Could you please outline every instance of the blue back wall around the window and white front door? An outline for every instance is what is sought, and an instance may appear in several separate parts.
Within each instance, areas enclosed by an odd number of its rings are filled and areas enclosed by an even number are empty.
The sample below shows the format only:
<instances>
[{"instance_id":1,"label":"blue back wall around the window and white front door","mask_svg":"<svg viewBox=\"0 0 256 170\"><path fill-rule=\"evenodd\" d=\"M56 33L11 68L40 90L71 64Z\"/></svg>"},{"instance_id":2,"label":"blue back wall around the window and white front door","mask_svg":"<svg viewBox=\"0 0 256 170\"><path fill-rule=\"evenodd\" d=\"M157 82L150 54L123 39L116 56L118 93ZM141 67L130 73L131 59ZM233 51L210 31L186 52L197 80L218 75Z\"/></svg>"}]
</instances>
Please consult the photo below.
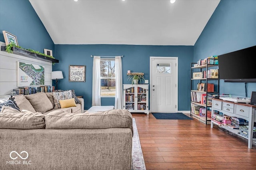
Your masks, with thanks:
<instances>
[{"instance_id":1,"label":"blue back wall around the window and white front door","mask_svg":"<svg viewBox=\"0 0 256 170\"><path fill-rule=\"evenodd\" d=\"M122 58L123 84L127 81L127 70L143 72L150 78L150 56L178 57L178 110L190 110L190 67L193 61L193 46L157 45L55 45L55 57L60 63L53 66L63 71L64 79L58 82L58 89L74 89L76 95L85 99L85 109L92 105L92 64L91 55L116 56ZM86 82L69 82L68 66L86 65ZM102 98L102 105L114 105L114 98Z\"/></svg>"}]
</instances>

